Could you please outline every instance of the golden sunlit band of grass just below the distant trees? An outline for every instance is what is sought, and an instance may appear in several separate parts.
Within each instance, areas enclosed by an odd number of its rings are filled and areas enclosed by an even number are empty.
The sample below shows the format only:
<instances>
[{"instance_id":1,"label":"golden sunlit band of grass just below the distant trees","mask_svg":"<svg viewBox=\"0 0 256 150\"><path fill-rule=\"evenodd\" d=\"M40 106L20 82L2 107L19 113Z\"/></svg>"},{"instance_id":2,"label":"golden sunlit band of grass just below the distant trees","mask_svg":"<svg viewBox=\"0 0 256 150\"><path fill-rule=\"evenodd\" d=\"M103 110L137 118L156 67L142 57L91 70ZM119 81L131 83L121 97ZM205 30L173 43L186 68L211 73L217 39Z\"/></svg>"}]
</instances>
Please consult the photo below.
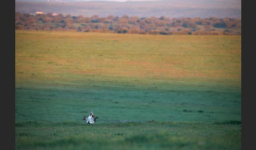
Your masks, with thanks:
<instances>
[{"instance_id":1,"label":"golden sunlit band of grass just below the distant trees","mask_svg":"<svg viewBox=\"0 0 256 150\"><path fill-rule=\"evenodd\" d=\"M15 49L16 82L93 75L241 82L241 36L16 31Z\"/></svg>"}]
</instances>

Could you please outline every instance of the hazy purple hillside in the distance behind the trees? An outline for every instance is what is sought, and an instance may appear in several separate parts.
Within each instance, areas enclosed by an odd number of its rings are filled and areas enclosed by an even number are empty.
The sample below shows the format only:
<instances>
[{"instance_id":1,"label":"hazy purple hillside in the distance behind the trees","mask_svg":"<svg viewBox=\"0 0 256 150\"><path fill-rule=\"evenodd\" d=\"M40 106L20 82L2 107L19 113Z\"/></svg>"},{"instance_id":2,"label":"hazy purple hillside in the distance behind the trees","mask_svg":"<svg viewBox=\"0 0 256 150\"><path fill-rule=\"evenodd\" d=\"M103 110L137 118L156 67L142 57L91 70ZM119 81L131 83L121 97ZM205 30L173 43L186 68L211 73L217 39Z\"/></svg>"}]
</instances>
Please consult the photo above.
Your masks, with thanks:
<instances>
[{"instance_id":1,"label":"hazy purple hillside in the distance behind the trees","mask_svg":"<svg viewBox=\"0 0 256 150\"><path fill-rule=\"evenodd\" d=\"M15 2L15 12L56 13L107 17L217 17L241 18L241 1L143 1L143 2Z\"/></svg>"}]
</instances>

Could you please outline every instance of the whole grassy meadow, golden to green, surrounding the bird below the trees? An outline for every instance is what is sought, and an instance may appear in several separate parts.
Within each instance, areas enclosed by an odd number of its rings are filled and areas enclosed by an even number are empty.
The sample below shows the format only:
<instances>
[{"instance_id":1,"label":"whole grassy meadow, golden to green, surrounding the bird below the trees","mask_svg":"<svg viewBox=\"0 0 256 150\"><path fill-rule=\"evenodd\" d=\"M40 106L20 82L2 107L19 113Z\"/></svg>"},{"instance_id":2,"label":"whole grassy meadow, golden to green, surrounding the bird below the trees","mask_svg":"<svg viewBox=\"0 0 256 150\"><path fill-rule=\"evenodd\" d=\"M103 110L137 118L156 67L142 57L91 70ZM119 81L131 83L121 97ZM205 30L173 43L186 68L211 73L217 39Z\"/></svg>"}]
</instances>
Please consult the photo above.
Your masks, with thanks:
<instances>
[{"instance_id":1,"label":"whole grassy meadow, golden to green, surrounding the bird below the trees","mask_svg":"<svg viewBox=\"0 0 256 150\"><path fill-rule=\"evenodd\" d=\"M15 31L16 149L88 146L241 149L241 36Z\"/></svg>"}]
</instances>

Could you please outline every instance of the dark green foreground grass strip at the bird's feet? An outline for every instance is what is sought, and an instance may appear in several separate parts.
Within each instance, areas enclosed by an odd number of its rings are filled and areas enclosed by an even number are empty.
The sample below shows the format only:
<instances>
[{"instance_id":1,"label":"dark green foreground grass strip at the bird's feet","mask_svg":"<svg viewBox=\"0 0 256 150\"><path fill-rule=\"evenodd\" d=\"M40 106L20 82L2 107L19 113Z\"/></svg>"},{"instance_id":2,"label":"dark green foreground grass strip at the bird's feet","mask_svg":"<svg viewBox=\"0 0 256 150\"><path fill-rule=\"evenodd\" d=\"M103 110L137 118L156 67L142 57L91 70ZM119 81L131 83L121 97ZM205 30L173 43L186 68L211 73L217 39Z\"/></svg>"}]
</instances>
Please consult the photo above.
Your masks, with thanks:
<instances>
[{"instance_id":1,"label":"dark green foreground grass strip at the bird's feet","mask_svg":"<svg viewBox=\"0 0 256 150\"><path fill-rule=\"evenodd\" d=\"M21 122L15 137L16 149L241 149L241 123Z\"/></svg>"}]
</instances>

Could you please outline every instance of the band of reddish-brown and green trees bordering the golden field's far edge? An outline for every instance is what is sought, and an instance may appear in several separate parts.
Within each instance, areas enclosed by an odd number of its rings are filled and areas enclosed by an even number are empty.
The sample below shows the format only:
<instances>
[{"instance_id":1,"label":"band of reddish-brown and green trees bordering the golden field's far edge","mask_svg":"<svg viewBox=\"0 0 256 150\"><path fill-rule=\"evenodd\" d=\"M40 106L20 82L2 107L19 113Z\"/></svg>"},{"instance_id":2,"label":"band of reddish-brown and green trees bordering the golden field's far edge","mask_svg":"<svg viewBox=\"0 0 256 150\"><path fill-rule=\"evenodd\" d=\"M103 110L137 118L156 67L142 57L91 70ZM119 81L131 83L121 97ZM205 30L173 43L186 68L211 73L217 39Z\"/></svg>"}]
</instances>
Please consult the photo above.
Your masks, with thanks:
<instances>
[{"instance_id":1,"label":"band of reddish-brown and green trees bordering the golden field's far edge","mask_svg":"<svg viewBox=\"0 0 256 150\"><path fill-rule=\"evenodd\" d=\"M16 30L60 30L117 34L161 35L241 35L241 19L237 18L168 18L137 16L91 17L62 14L15 13Z\"/></svg>"}]
</instances>

